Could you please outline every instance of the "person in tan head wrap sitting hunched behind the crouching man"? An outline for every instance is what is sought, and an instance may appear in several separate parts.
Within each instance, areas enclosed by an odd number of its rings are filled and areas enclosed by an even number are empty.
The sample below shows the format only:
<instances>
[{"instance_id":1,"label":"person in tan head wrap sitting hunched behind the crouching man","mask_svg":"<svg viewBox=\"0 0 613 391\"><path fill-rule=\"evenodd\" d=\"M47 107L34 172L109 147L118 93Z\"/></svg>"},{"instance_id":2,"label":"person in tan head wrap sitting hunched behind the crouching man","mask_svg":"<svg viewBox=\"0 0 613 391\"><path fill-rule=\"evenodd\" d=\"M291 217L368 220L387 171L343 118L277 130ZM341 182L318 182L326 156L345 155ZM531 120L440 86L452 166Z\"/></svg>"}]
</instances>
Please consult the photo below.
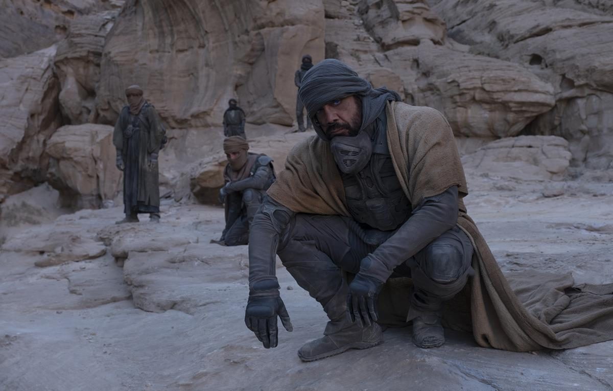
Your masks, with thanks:
<instances>
[{"instance_id":1,"label":"person in tan head wrap sitting hunched behind the crouching man","mask_svg":"<svg viewBox=\"0 0 613 391\"><path fill-rule=\"evenodd\" d=\"M232 136L224 140L228 164L224 169L226 184L219 190L219 201L226 207L226 228L221 238L213 243L246 245L253 216L275 181L272 159L248 150L249 144L242 137Z\"/></svg>"}]
</instances>

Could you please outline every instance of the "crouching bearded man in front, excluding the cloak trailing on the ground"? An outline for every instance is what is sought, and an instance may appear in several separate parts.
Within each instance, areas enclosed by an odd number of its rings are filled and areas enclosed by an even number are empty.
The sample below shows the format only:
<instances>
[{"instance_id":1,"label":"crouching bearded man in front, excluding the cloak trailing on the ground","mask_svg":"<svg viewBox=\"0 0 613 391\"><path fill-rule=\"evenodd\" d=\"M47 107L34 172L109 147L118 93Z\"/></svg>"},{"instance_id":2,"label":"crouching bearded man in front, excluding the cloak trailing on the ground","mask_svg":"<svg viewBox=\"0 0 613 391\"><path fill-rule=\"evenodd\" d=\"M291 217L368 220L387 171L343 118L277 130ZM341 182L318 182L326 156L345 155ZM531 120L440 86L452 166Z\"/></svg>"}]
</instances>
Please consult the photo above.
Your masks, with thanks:
<instances>
[{"instance_id":1,"label":"crouching bearded man in front, excluding the cloak trailing on the ground","mask_svg":"<svg viewBox=\"0 0 613 391\"><path fill-rule=\"evenodd\" d=\"M277 316L292 330L278 254L330 319L303 361L381 343L376 301L392 275L413 279L414 344L441 346L441 306L465 286L473 254L456 224L467 189L451 127L335 59L309 70L299 94L317 135L294 147L253 220L247 327L264 347L278 343Z\"/></svg>"}]
</instances>

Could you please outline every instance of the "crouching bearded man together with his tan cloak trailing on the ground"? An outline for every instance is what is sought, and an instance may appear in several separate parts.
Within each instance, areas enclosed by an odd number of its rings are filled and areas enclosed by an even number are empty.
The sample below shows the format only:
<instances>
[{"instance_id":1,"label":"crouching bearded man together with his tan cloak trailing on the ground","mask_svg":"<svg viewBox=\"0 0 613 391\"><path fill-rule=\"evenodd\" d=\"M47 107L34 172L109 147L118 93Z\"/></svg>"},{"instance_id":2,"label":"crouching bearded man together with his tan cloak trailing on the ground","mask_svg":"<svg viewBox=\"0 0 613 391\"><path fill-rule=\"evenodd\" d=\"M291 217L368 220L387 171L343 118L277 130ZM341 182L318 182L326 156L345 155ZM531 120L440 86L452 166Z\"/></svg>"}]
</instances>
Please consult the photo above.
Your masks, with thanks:
<instances>
[{"instance_id":1,"label":"crouching bearded man together with his tan cloak trailing on the ground","mask_svg":"<svg viewBox=\"0 0 613 391\"><path fill-rule=\"evenodd\" d=\"M292 331L277 255L329 318L324 336L300 347L307 362L376 346L379 322L412 321L416 346L441 346L445 302L446 319L464 316L458 324L485 347L562 349L613 338L610 287L599 288L601 297L573 287L563 298L568 279L546 283L531 272L516 278L524 293L514 294L466 214L462 163L440 112L373 89L335 59L304 76L299 96L316 135L289 153L249 232L245 324L264 347L277 346L277 317Z\"/></svg>"}]
</instances>

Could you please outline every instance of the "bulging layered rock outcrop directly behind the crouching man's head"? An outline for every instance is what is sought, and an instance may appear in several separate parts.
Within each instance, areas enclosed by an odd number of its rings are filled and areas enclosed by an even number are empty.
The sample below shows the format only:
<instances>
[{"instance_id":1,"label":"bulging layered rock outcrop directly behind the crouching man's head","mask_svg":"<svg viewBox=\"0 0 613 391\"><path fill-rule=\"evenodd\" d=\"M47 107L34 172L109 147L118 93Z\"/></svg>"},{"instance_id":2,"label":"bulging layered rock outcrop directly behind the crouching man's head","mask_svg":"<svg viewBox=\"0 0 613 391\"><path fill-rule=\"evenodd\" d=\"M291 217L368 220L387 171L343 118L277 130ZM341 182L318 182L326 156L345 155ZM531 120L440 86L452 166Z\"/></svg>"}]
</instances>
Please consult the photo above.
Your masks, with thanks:
<instances>
[{"instance_id":1,"label":"bulging layered rock outcrop directly behind the crouching man's head","mask_svg":"<svg viewBox=\"0 0 613 391\"><path fill-rule=\"evenodd\" d=\"M524 67L447 39L444 21L425 2L362 1L354 15L326 21L327 56L406 102L440 110L458 136L517 135L555 103L553 86Z\"/></svg>"}]
</instances>

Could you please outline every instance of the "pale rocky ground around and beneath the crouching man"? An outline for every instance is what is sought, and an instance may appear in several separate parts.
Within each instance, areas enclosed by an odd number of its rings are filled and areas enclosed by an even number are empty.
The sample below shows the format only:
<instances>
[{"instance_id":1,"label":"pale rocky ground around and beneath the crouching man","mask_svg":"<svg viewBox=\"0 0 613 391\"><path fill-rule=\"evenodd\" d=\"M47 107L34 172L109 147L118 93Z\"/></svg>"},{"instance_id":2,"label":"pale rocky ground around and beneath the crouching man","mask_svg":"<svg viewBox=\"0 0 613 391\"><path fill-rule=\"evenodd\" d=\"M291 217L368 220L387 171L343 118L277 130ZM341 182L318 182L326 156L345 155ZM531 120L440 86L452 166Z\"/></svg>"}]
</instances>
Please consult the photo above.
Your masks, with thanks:
<instances>
[{"instance_id":1,"label":"pale rocky ground around and beneath the crouching man","mask_svg":"<svg viewBox=\"0 0 613 391\"><path fill-rule=\"evenodd\" d=\"M611 173L563 182L467 174L468 211L504 271L613 282ZM142 216L116 226L121 211L82 210L7 237L1 390L613 390L611 341L512 353L448 331L443 347L424 350L397 328L373 349L300 362L297 349L321 336L326 316L280 266L294 332L264 349L243 322L247 247L209 244L221 208L167 203L161 224Z\"/></svg>"}]
</instances>

